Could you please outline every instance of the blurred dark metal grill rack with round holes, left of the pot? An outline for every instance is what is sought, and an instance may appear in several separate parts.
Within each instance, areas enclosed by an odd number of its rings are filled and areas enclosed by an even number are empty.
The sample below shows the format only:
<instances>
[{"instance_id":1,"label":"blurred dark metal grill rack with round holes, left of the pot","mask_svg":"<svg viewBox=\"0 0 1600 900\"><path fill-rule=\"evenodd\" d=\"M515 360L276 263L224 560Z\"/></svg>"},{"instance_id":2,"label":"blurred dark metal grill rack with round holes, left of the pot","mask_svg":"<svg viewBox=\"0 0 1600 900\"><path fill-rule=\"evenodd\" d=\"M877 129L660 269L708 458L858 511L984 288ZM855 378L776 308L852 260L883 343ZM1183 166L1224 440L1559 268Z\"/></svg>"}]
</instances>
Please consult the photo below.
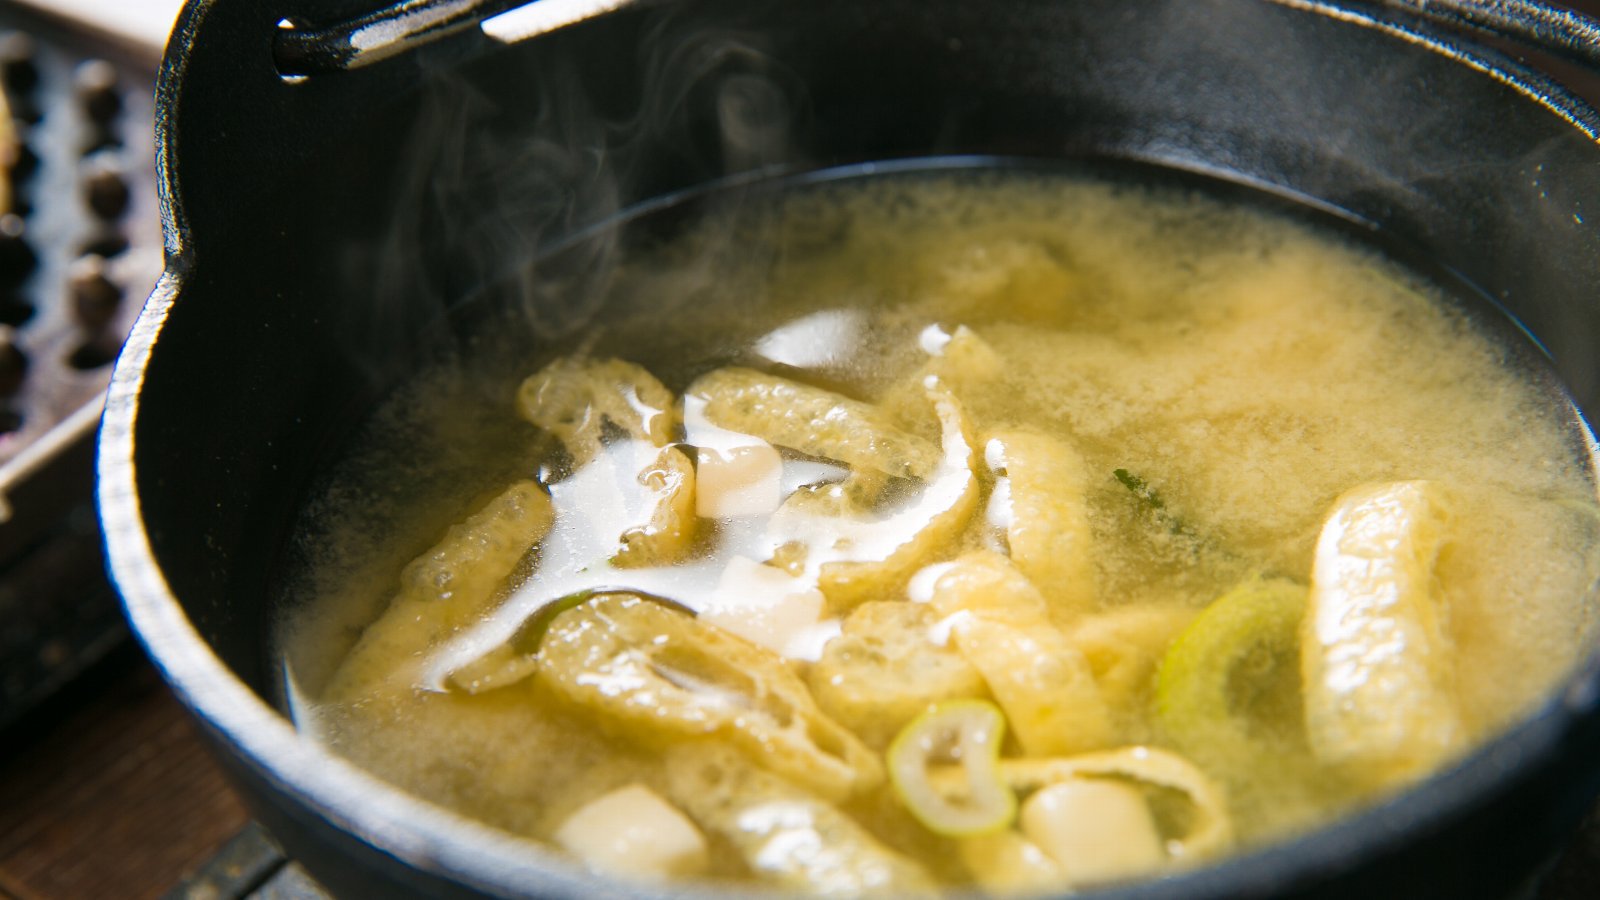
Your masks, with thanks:
<instances>
[{"instance_id":1,"label":"blurred dark metal grill rack with round holes, left of the pot","mask_svg":"<svg viewBox=\"0 0 1600 900\"><path fill-rule=\"evenodd\" d=\"M126 642L93 444L162 271L154 85L149 53L0 5L0 732Z\"/></svg>"}]
</instances>

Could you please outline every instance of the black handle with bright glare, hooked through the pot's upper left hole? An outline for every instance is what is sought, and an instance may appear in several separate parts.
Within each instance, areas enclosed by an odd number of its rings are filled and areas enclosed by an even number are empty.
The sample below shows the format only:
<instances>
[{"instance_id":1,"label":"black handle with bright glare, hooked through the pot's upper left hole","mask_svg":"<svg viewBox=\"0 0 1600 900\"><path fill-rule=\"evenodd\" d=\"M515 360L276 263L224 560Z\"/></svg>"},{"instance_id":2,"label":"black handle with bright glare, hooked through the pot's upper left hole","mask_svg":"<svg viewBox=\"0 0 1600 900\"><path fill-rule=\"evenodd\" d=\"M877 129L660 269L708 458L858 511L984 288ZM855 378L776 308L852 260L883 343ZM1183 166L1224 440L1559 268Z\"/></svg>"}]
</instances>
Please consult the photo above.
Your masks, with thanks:
<instances>
[{"instance_id":1,"label":"black handle with bright glare, hooked through the pot's upper left hole","mask_svg":"<svg viewBox=\"0 0 1600 900\"><path fill-rule=\"evenodd\" d=\"M274 37L272 58L280 75L304 78L360 69L517 8L538 6L539 30L554 30L624 5L627 0L402 0L331 26L285 22Z\"/></svg>"}]
</instances>

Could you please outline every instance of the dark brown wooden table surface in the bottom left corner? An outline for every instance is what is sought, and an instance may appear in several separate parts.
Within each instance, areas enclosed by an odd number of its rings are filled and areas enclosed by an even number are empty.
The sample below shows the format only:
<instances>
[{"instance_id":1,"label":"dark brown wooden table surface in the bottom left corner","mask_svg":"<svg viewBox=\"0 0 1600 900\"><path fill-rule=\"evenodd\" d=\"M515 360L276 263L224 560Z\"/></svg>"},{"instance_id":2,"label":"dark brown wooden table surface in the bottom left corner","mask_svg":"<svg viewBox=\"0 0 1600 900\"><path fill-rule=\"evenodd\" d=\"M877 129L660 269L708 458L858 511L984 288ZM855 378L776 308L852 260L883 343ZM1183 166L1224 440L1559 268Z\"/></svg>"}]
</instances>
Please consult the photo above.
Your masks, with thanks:
<instances>
[{"instance_id":1,"label":"dark brown wooden table surface in the bottom left corner","mask_svg":"<svg viewBox=\"0 0 1600 900\"><path fill-rule=\"evenodd\" d=\"M0 746L0 895L162 897L248 817L130 644Z\"/></svg>"}]
</instances>

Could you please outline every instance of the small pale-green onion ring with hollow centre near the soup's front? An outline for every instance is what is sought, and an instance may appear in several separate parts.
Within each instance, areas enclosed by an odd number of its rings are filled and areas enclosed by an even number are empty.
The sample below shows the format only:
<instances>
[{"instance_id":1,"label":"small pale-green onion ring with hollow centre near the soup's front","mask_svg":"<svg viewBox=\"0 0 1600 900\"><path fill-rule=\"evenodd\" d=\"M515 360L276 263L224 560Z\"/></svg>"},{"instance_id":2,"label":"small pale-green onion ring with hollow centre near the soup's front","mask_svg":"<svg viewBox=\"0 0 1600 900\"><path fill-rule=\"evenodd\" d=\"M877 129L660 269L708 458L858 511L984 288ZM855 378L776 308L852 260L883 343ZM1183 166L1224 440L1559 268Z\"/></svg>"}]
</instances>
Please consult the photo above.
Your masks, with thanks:
<instances>
[{"instance_id":1,"label":"small pale-green onion ring with hollow centre near the soup's front","mask_svg":"<svg viewBox=\"0 0 1600 900\"><path fill-rule=\"evenodd\" d=\"M1005 716L994 703L936 703L890 745L894 794L917 822L947 838L971 838L1011 825L1016 794L1000 778L1002 738ZM936 778L934 767L938 775L954 769L957 777Z\"/></svg>"}]
</instances>

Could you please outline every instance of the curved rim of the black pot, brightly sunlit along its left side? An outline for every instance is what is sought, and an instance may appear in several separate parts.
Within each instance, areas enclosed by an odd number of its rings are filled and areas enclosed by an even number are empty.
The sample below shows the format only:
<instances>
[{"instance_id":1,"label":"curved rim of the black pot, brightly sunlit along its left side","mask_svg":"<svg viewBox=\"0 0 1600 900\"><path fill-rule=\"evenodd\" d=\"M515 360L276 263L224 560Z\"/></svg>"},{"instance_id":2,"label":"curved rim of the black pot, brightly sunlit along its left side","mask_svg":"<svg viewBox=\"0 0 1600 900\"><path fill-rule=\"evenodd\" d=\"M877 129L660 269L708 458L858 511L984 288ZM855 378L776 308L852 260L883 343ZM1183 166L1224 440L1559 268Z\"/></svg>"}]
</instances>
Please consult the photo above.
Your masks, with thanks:
<instances>
[{"instance_id":1,"label":"curved rim of the black pot, brightly sunlit along its left side","mask_svg":"<svg viewBox=\"0 0 1600 900\"><path fill-rule=\"evenodd\" d=\"M173 34L186 46L206 11L222 0L186 6ZM1462 46L1454 35L1427 24L1402 24L1357 8L1346 0L1259 0L1307 14L1374 29L1421 45L1469 66L1544 106L1590 139L1600 138L1600 117L1563 86L1515 61L1480 46ZM182 66L168 56L160 99L166 115L181 93ZM533 841L512 836L430 802L413 798L322 745L298 733L293 724L240 681L211 650L184 613L162 573L144 528L134 456L141 388L146 367L173 304L182 295L190 267L181 202L173 189L174 147L162 131L158 152L162 216L168 266L130 331L112 373L98 442L96 498L106 540L107 569L123 599L133 631L184 705L237 759L275 791L302 804L339 830L378 847L411 868L440 874L494 895L624 895L624 897L736 897L749 889L709 886L630 886L582 871L576 863ZM1150 160L1165 163L1168 160ZM1214 173L1213 173L1214 175ZM1107 890L1106 897L1266 897L1286 887L1315 886L1326 876L1386 857L1398 847L1440 831L1448 822L1490 806L1512 790L1512 775L1557 756L1584 719L1600 717L1600 647L1565 677L1542 705L1520 724L1478 746L1451 769L1333 825L1254 849L1170 878ZM1403 838L1397 841L1397 838ZM1094 894L1099 897L1101 894Z\"/></svg>"}]
</instances>

